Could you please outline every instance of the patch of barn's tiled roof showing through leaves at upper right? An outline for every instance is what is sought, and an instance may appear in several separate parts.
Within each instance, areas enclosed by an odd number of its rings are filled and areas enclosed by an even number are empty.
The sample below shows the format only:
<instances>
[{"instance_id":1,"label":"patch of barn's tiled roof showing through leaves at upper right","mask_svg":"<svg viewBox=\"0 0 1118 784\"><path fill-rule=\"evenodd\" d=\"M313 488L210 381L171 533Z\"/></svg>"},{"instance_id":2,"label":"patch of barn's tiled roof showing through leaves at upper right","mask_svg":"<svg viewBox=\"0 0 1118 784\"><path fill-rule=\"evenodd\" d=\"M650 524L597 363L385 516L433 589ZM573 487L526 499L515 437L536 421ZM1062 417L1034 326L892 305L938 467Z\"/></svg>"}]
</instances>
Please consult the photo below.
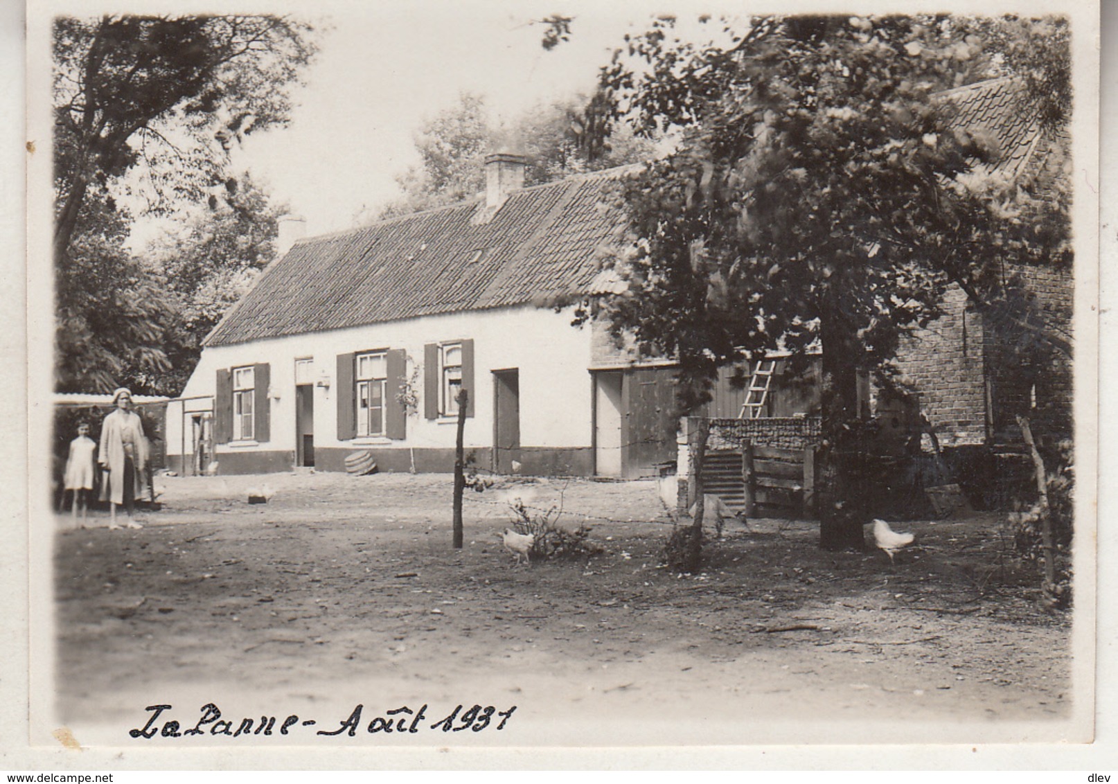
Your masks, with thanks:
<instances>
[{"instance_id":1,"label":"patch of barn's tiled roof showing through leaves at upper right","mask_svg":"<svg viewBox=\"0 0 1118 784\"><path fill-rule=\"evenodd\" d=\"M1044 144L1040 113L1031 107L1024 83L1008 77L976 82L956 87L937 96L946 106L945 119L950 130L968 133L985 132L997 145L997 159L992 168L1017 177L1039 158Z\"/></svg>"}]
</instances>

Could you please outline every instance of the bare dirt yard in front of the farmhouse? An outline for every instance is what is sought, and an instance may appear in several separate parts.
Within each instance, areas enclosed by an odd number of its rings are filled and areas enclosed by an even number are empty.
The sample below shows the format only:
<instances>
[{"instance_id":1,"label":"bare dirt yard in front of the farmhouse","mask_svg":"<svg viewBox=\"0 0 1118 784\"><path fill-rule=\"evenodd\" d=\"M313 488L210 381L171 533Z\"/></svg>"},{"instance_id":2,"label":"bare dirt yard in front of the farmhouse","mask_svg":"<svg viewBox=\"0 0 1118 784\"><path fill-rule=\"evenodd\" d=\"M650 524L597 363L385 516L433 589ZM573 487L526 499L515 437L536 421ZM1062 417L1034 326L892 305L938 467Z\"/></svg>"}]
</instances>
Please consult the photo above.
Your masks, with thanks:
<instances>
[{"instance_id":1,"label":"bare dirt yard in front of the farmhouse","mask_svg":"<svg viewBox=\"0 0 1118 784\"><path fill-rule=\"evenodd\" d=\"M313 719L283 743L318 743L360 703L350 743L368 743L401 706L428 726L517 706L500 733L395 739L519 745L1051 738L1069 715L1070 614L1039 608L998 517L898 523L918 540L896 565L821 551L811 523L735 521L680 577L655 483L511 487L561 500L601 552L514 567L500 487L467 491L455 551L445 475L158 478L142 530L59 516L60 717L123 744L146 706L184 728L214 702L233 728Z\"/></svg>"}]
</instances>

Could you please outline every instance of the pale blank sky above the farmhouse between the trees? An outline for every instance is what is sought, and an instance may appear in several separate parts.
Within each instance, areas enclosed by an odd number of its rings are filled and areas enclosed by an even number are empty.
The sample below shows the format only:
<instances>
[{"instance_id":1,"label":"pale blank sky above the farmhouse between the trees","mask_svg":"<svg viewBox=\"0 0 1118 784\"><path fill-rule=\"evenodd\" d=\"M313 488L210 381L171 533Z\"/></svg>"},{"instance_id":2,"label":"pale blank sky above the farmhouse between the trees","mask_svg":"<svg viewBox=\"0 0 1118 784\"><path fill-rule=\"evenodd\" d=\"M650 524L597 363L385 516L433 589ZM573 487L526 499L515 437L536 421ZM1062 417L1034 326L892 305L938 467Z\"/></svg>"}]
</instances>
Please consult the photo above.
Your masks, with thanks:
<instances>
[{"instance_id":1,"label":"pale blank sky above the farmhouse between the trees","mask_svg":"<svg viewBox=\"0 0 1118 784\"><path fill-rule=\"evenodd\" d=\"M349 228L362 207L398 196L396 177L418 162L414 133L462 92L492 117L589 93L597 69L646 3L565 3L571 40L540 45L555 12L532 2L348 3L313 21L321 50L295 92L288 127L246 136L235 164L306 220L309 235ZM306 6L304 8L310 8ZM643 28L642 28L643 29Z\"/></svg>"}]
</instances>

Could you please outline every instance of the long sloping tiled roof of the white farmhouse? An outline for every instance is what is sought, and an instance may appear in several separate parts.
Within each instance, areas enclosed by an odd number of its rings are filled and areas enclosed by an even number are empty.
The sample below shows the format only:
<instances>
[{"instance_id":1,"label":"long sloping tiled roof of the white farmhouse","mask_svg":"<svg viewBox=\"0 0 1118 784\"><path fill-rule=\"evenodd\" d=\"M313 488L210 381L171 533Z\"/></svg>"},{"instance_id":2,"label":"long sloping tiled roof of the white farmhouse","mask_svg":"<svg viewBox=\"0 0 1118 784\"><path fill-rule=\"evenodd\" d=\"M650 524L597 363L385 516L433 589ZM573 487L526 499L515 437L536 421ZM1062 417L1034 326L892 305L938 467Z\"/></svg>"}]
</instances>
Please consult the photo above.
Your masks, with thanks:
<instances>
[{"instance_id":1,"label":"long sloping tiled roof of the white farmhouse","mask_svg":"<svg viewBox=\"0 0 1118 784\"><path fill-rule=\"evenodd\" d=\"M483 201L301 240L271 264L206 346L588 291L624 217L604 190L620 170L513 191L489 223Z\"/></svg>"}]
</instances>

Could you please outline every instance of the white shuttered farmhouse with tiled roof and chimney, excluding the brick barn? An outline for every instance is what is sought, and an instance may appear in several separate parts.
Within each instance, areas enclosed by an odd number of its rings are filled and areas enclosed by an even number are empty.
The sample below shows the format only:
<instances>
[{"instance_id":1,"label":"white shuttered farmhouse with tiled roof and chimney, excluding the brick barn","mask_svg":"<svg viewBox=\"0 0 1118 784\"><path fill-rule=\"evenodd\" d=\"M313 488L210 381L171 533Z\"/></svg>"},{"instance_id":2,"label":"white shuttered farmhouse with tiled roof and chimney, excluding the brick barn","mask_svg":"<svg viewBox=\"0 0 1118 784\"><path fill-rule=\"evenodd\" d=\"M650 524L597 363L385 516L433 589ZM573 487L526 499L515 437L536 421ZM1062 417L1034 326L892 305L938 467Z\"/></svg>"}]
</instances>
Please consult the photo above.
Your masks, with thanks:
<instances>
[{"instance_id":1,"label":"white shuttered farmhouse with tiled roof and chimney, excluding the brick barn","mask_svg":"<svg viewBox=\"0 0 1118 784\"><path fill-rule=\"evenodd\" d=\"M601 327L546 306L593 290L623 226L617 171L523 188L524 163L490 155L482 199L296 242L208 336L169 409L172 465L339 471L367 451L381 470L449 471L459 389L483 469L632 475L671 459L670 375L599 372ZM666 426L631 433L634 407Z\"/></svg>"}]
</instances>

